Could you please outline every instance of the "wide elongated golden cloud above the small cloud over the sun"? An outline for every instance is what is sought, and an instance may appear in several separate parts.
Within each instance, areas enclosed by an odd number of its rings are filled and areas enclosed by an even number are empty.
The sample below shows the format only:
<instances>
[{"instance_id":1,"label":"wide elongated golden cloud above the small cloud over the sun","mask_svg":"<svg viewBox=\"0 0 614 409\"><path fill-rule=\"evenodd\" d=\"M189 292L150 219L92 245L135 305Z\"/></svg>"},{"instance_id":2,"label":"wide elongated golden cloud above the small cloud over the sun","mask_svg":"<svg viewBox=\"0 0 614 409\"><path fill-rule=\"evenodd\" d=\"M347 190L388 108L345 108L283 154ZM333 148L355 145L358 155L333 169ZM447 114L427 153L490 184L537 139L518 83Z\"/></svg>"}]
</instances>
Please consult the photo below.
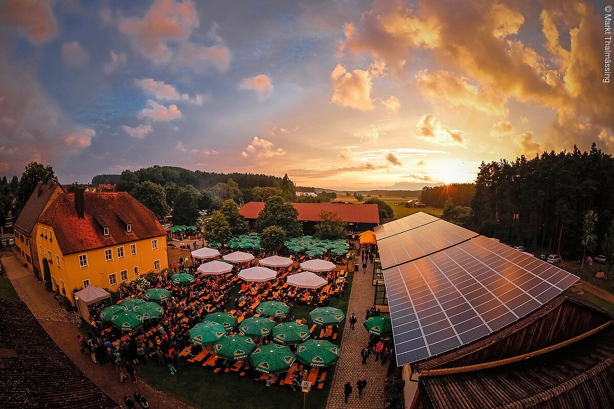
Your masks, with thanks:
<instances>
[{"instance_id":1,"label":"wide elongated golden cloud above the small cloud over the sun","mask_svg":"<svg viewBox=\"0 0 614 409\"><path fill-rule=\"evenodd\" d=\"M449 71L419 71L416 84L420 93L433 104L466 107L486 115L507 115L503 93L473 85L467 77Z\"/></svg>"}]
</instances>

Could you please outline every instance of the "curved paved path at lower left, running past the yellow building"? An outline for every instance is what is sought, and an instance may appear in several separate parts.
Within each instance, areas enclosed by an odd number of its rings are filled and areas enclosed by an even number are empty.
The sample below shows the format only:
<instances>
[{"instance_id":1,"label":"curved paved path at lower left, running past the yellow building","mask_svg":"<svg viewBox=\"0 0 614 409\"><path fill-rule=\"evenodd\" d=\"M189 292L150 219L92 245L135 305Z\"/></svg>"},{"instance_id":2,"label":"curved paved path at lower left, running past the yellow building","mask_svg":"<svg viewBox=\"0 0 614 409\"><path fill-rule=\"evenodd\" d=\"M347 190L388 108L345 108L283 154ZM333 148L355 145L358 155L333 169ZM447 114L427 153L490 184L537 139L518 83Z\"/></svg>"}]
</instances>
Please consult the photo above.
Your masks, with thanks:
<instances>
[{"instance_id":1,"label":"curved paved path at lower left, running past the yellow building","mask_svg":"<svg viewBox=\"0 0 614 409\"><path fill-rule=\"evenodd\" d=\"M152 409L190 408L189 405L164 392L151 388L143 381L119 383L119 375L113 370L111 364L101 365L91 362L90 357L87 354L80 353L79 346L77 346L79 317L61 308L58 301L53 298L53 294L44 288L33 273L23 267L17 256L2 257L2 266L4 266L7 277L15 287L18 296L28 305L45 331L53 338L53 341L93 383L111 396L112 399L120 402L122 407L125 407L123 396L139 391L147 397ZM136 370L138 370L138 367L136 367Z\"/></svg>"}]
</instances>

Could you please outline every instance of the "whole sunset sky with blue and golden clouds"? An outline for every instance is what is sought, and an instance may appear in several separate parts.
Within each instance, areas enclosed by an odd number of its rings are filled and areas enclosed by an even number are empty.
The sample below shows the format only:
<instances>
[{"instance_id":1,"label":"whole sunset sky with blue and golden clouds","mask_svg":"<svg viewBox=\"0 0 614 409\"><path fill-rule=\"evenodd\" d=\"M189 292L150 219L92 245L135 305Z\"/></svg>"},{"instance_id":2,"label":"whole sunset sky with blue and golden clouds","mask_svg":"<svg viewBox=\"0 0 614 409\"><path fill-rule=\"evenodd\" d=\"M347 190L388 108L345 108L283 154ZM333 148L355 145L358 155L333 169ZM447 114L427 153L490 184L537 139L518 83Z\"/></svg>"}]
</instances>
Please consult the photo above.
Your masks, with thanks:
<instances>
[{"instance_id":1,"label":"whole sunset sky with blue and golden clouds","mask_svg":"<svg viewBox=\"0 0 614 409\"><path fill-rule=\"evenodd\" d=\"M302 186L472 182L614 151L605 3L0 1L0 175L155 164Z\"/></svg>"}]
</instances>

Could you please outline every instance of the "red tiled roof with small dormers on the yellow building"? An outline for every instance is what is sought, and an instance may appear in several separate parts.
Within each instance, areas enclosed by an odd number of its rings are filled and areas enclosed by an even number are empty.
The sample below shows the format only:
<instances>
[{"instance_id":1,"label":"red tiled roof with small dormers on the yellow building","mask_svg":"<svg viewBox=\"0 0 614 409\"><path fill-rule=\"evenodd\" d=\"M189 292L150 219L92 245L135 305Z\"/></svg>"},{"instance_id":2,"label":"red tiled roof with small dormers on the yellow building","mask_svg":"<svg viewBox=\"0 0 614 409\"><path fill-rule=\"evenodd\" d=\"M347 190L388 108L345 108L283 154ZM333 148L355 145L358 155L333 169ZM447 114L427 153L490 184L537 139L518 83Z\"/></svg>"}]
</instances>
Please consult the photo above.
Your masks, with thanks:
<instances>
[{"instance_id":1,"label":"red tiled roof with small dormers on the yellow building","mask_svg":"<svg viewBox=\"0 0 614 409\"><path fill-rule=\"evenodd\" d=\"M77 217L73 193L60 194L39 218L53 227L63 254L166 235L155 215L126 192L85 193L84 202L83 219ZM131 232L122 219L131 221ZM103 227L109 227L106 237Z\"/></svg>"}]
</instances>

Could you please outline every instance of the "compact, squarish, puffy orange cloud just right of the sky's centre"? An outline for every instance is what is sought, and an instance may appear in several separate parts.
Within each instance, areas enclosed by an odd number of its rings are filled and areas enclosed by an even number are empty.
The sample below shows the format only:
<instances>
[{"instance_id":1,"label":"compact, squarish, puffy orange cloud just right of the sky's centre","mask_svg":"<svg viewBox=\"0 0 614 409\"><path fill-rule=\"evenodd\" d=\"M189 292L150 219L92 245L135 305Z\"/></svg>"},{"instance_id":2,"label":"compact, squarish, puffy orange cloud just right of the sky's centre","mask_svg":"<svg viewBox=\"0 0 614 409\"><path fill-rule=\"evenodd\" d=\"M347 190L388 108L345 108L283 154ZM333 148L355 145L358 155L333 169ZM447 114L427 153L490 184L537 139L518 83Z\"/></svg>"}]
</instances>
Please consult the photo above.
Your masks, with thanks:
<instances>
[{"instance_id":1,"label":"compact, squarish, puffy orange cloud just right of the sky's centre","mask_svg":"<svg viewBox=\"0 0 614 409\"><path fill-rule=\"evenodd\" d=\"M333 104L362 111L373 110L373 83L369 72L360 69L348 72L341 64L337 64L330 74L330 83L333 87L330 102Z\"/></svg>"}]
</instances>

